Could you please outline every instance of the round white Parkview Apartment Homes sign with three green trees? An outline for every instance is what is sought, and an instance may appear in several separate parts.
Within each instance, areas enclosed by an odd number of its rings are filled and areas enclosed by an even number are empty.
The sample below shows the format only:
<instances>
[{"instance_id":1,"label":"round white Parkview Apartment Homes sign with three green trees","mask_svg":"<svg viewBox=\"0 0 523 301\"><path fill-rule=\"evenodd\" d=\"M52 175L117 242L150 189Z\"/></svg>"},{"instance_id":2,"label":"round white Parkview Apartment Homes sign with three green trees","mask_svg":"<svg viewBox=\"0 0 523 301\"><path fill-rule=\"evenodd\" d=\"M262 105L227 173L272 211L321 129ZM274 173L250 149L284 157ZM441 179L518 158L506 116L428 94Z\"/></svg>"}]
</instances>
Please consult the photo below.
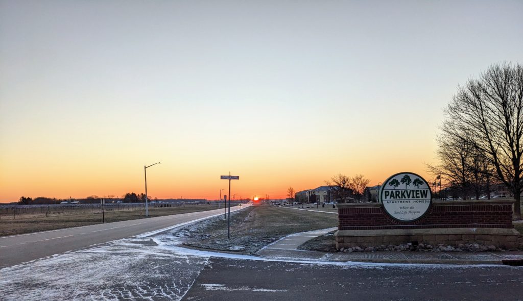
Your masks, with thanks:
<instances>
[{"instance_id":1,"label":"round white Parkview Apartment Homes sign with three green trees","mask_svg":"<svg viewBox=\"0 0 523 301\"><path fill-rule=\"evenodd\" d=\"M412 222L430 208L432 193L427 181L412 172L400 172L386 179L380 188L380 202L392 218Z\"/></svg>"}]
</instances>

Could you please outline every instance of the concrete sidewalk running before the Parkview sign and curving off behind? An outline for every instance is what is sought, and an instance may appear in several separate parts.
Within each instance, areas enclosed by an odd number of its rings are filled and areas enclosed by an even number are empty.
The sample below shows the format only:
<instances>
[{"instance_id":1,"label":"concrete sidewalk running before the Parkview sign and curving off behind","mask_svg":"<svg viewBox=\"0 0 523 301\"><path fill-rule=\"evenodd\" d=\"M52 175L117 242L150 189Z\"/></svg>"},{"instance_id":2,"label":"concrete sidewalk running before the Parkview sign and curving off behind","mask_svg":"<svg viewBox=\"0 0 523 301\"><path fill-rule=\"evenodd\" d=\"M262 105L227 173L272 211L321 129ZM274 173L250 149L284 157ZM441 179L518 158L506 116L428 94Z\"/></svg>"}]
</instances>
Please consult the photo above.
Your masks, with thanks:
<instances>
[{"instance_id":1,"label":"concrete sidewalk running before the Parkview sign and curving off behind","mask_svg":"<svg viewBox=\"0 0 523 301\"><path fill-rule=\"evenodd\" d=\"M265 258L311 260L311 261L358 261L382 263L423 264L510 264L510 260L523 260L523 251L509 252L338 252L297 250L305 241L329 233L337 228L328 228L284 237L259 250ZM521 263L519 263L521 265Z\"/></svg>"}]
</instances>

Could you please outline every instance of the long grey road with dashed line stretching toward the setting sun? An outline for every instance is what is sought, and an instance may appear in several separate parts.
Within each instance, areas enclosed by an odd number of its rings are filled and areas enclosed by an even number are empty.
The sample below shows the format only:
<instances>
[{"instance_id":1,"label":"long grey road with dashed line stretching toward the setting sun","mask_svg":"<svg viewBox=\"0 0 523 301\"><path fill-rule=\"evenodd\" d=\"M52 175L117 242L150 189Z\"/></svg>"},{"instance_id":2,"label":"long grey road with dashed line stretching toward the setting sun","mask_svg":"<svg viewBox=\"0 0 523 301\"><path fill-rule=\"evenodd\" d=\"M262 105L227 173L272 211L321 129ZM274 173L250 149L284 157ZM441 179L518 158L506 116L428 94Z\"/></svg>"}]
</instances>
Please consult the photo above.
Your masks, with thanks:
<instances>
[{"instance_id":1,"label":"long grey road with dashed line stretching toward the setting sun","mask_svg":"<svg viewBox=\"0 0 523 301\"><path fill-rule=\"evenodd\" d=\"M231 212L240 209L242 207L231 207ZM223 209L1 237L0 269L220 213L223 214Z\"/></svg>"}]
</instances>

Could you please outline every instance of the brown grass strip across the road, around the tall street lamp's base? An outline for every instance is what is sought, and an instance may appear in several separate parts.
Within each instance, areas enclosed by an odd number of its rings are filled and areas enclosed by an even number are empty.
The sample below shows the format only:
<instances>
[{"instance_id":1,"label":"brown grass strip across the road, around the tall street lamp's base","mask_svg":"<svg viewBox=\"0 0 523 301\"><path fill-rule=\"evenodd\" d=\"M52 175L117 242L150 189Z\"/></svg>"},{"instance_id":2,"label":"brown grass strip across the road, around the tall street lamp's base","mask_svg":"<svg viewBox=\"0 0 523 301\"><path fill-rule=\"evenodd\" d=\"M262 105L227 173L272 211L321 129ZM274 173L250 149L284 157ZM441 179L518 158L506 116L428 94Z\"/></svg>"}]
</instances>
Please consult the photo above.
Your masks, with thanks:
<instances>
[{"instance_id":1,"label":"brown grass strip across the road, around the tall street lamp's base","mask_svg":"<svg viewBox=\"0 0 523 301\"><path fill-rule=\"evenodd\" d=\"M187 205L179 207L149 208L149 217L166 216L182 213L208 211L216 209L215 205ZM120 210L105 211L105 222L130 221L132 219L146 218L145 210ZM56 230L62 228L89 226L102 223L100 211L69 211L49 215L3 215L0 219L0 236L33 233L39 231Z\"/></svg>"}]
</instances>

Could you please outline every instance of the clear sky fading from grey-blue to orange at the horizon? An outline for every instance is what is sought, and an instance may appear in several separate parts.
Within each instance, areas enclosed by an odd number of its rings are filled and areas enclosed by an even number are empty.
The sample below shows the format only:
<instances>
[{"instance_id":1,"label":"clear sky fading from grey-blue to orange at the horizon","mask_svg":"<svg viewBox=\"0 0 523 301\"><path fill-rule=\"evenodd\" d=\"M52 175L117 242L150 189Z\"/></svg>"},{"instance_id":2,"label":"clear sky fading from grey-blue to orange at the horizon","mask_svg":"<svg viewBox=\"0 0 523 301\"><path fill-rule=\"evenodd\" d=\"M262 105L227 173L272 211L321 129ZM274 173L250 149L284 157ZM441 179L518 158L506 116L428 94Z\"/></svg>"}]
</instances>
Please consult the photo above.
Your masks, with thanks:
<instances>
[{"instance_id":1,"label":"clear sky fading from grey-blue to orange at the horizon","mask_svg":"<svg viewBox=\"0 0 523 301\"><path fill-rule=\"evenodd\" d=\"M0 202L433 178L459 84L523 62L521 1L0 0ZM222 192L223 193L223 192Z\"/></svg>"}]
</instances>

